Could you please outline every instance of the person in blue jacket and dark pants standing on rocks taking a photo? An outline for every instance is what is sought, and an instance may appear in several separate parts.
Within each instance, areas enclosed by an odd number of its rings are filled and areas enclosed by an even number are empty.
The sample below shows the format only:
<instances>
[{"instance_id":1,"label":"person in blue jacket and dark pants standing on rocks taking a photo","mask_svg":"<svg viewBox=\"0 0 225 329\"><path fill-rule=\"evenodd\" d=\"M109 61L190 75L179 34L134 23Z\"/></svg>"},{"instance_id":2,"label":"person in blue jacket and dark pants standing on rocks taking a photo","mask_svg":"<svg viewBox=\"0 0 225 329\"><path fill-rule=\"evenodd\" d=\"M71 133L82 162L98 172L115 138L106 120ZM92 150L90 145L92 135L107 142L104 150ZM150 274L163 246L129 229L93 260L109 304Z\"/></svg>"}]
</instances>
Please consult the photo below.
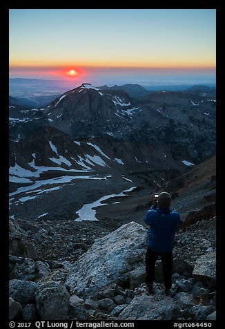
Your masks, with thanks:
<instances>
[{"instance_id":1,"label":"person in blue jacket and dark pants standing on rocks taking a photo","mask_svg":"<svg viewBox=\"0 0 225 329\"><path fill-rule=\"evenodd\" d=\"M170 295L173 271L173 247L177 226L182 223L177 212L170 209L171 196L161 192L153 199L153 205L146 213L144 221L149 225L148 248L146 251L146 285L150 294L154 293L155 263L160 256L164 274L164 291Z\"/></svg>"}]
</instances>

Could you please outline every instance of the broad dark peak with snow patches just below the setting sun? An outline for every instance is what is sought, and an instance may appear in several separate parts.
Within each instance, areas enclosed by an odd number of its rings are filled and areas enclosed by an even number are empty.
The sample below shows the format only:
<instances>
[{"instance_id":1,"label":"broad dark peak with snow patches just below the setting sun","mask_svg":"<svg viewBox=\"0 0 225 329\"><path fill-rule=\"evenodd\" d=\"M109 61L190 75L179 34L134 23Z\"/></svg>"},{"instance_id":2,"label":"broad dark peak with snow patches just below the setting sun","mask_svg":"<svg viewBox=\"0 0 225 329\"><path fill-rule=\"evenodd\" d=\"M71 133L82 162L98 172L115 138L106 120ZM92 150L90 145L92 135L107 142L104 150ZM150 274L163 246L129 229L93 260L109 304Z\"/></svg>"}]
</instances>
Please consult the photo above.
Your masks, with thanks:
<instances>
[{"instance_id":1,"label":"broad dark peak with snow patches just below the setting sun","mask_svg":"<svg viewBox=\"0 0 225 329\"><path fill-rule=\"evenodd\" d=\"M45 107L50 126L76 138L130 134L130 113L138 109L123 90L100 91L90 83L63 93Z\"/></svg>"}]
</instances>

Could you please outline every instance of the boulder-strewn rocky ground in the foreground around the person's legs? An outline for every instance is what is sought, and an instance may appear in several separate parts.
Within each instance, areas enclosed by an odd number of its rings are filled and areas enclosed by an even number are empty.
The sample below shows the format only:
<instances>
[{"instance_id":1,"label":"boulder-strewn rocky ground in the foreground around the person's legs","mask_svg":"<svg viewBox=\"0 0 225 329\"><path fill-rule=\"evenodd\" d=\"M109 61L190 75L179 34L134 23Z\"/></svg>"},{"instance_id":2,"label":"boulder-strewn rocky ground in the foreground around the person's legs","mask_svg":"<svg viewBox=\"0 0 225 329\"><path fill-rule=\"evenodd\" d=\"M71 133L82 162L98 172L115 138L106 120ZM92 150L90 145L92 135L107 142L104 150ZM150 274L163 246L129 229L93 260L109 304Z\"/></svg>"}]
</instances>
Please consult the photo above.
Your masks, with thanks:
<instances>
[{"instance_id":1,"label":"boulder-strewn rocky ground in the foreground around the person's legs","mask_svg":"<svg viewBox=\"0 0 225 329\"><path fill-rule=\"evenodd\" d=\"M177 232L173 297L160 260L146 290L146 228L106 222L10 219L11 320L216 319L215 217Z\"/></svg>"}]
</instances>

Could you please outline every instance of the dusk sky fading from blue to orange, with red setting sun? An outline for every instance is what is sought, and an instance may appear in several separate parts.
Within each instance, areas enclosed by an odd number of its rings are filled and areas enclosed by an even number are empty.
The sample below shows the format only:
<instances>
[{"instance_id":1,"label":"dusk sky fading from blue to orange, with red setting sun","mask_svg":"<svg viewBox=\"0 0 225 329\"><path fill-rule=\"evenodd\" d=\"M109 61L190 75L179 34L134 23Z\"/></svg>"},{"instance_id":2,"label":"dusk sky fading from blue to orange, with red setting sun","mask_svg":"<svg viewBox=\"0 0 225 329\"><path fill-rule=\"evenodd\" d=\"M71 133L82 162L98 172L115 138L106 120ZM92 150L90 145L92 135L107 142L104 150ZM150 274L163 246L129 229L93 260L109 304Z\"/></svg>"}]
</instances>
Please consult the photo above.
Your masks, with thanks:
<instances>
[{"instance_id":1,"label":"dusk sky fading from blue to orange, with red setting sun","mask_svg":"<svg viewBox=\"0 0 225 329\"><path fill-rule=\"evenodd\" d=\"M10 77L213 84L214 9L10 9Z\"/></svg>"}]
</instances>

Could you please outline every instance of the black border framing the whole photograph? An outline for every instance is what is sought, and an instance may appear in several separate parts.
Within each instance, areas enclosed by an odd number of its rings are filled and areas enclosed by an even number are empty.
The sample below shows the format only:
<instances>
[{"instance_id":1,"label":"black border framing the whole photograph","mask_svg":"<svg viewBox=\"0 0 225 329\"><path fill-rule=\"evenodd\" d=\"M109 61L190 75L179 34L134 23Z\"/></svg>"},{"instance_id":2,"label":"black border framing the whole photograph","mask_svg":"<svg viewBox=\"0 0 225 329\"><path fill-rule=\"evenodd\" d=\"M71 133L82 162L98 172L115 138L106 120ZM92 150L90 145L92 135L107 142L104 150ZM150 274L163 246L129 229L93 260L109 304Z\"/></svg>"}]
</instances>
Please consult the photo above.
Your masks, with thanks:
<instances>
[{"instance_id":1,"label":"black border framing the whole photograph","mask_svg":"<svg viewBox=\"0 0 225 329\"><path fill-rule=\"evenodd\" d=\"M79 1L81 5L81 8L84 8L84 5L88 5L88 3L85 3L84 1ZM62 6L59 6L63 4ZM101 3L94 1L94 3L90 3L90 5L95 4L95 6L98 6L97 8L92 9L103 9L102 6L99 6ZM104 5L107 3L104 3ZM113 1L113 3L109 2L109 5L115 6L115 8L125 9L128 3L124 6L121 1L119 1L119 4L117 6L117 2ZM144 3L146 5L146 3ZM2 32L2 47L1 47L1 73L3 74L3 77L1 76L1 100L3 99L4 102L1 102L1 201L3 203L1 207L1 274L3 274L3 277L1 277L1 320L5 323L6 319L6 328L8 327L8 155L7 151L9 151L9 144L6 142L8 141L8 95L9 95L9 76L8 76L8 59L9 59L9 52L8 52L8 35L9 35L9 18L8 18L8 12L10 9L67 9L67 8L77 8L77 5L79 6L79 3L77 1L18 1L18 0L11 0L7 1L1 1L1 32ZM223 17L223 11L222 11L222 0L220 1L204 1L204 0L190 0L190 1L152 1L149 3L151 8L148 9L216 9L217 11L217 79L216 79L216 85L217 85L217 147L216 147L216 156L217 156L217 285L219 288L217 288L217 320L216 323L213 323L213 326L211 328L220 328L220 321L222 321L222 305L223 305L223 296L222 293L222 286L223 286L223 276L222 276L222 268L219 268L221 266L222 258L224 258L224 254L222 252L222 239L220 238L220 234L222 234L222 229L220 226L222 226L222 220L225 220L224 216L222 215L222 203L221 198L219 196L224 196L222 192L223 182L222 182L222 173L223 168L221 165L223 164L223 134L222 134L222 126L224 126L222 120L219 118L219 115L222 115L222 111L224 110L223 106L223 100L222 100L222 63L224 62L222 60L223 51L219 51L219 46L223 46L224 41L221 38L223 35L223 24L222 19ZM104 7L104 6L103 6ZM115 9L113 8L113 9ZM145 6L141 7L141 9L144 9ZM77 8L78 9L78 8ZM80 9L80 8L79 8ZM87 9L87 8L84 8ZM90 8L91 9L91 8ZM107 8L110 9L110 8ZM130 9L139 9L139 8L130 8ZM220 80L219 80L220 79ZM223 117L222 117L223 118ZM224 235L224 234L223 234ZM6 310L4 311L4 308ZM66 321L63 321L66 322ZM81 322L81 321L79 321ZM98 321L95 321L98 322ZM126 322L126 321L122 321ZM144 324L144 326L150 324L149 321L130 321L135 323L135 328L137 328L139 325ZM180 321L181 322L181 321ZM186 321L188 322L188 321ZM191 322L200 322L200 321L191 321ZM204 322L204 321L202 321ZM69 321L70 323L70 321ZM173 328L174 321L155 321L154 322L154 328L157 328L157 326L165 326L165 328ZM218 326L216 324L218 323ZM15 327L17 328L17 326ZM35 323L32 323L32 326L30 328L36 328ZM73 327L75 328L75 327Z\"/></svg>"}]
</instances>

